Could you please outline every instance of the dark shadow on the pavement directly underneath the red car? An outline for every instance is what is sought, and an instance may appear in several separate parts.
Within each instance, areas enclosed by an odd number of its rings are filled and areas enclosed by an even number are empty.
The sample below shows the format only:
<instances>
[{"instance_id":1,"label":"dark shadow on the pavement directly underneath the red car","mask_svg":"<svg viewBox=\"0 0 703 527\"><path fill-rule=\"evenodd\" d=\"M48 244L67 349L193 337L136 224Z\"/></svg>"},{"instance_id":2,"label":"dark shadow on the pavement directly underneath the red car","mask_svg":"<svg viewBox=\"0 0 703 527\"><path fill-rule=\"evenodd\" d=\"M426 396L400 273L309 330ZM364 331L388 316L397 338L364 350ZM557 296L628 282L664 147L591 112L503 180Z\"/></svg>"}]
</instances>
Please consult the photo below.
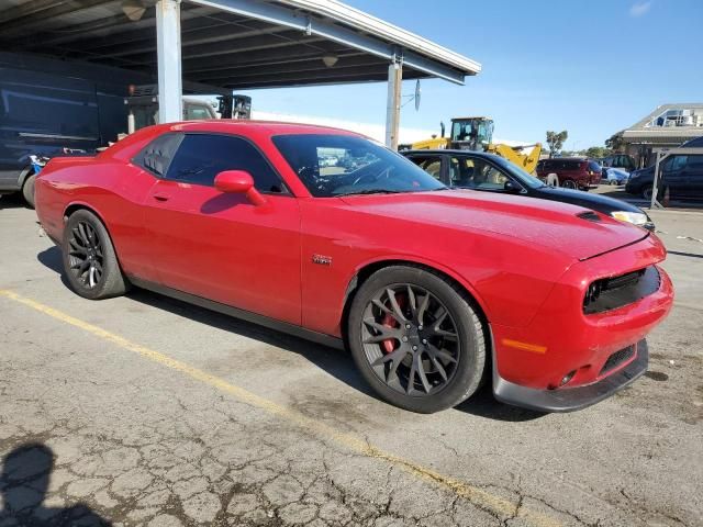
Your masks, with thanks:
<instances>
[{"instance_id":1,"label":"dark shadow on the pavement directly underneath the red car","mask_svg":"<svg viewBox=\"0 0 703 527\"><path fill-rule=\"evenodd\" d=\"M37 259L41 264L60 274L64 285L70 289L63 271L62 253L58 247L53 246L43 250L37 255ZM348 351L333 349L321 344L288 335L287 333L277 332L259 326L258 324L224 315L144 289L134 288L127 293L127 296L150 307L168 311L169 313L200 324L205 324L298 354L338 381L344 382L365 395L380 401L380 397L371 391L358 373ZM531 421L545 415L500 403L493 397L490 385L483 386L482 390L477 392L468 401L458 405L455 410L479 417L509 422Z\"/></svg>"}]
</instances>

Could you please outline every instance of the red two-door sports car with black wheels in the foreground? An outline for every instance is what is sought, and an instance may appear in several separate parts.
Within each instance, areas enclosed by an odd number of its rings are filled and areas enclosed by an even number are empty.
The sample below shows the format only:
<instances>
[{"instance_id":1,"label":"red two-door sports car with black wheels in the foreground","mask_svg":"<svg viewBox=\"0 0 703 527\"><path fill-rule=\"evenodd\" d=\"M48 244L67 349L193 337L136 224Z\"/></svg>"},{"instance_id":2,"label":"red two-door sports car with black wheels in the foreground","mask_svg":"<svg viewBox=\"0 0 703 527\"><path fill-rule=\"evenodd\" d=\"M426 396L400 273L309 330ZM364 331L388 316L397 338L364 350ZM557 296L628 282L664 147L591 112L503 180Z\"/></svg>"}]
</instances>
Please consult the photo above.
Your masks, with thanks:
<instances>
[{"instance_id":1,"label":"red two-door sports car with black wheels in the foreground","mask_svg":"<svg viewBox=\"0 0 703 527\"><path fill-rule=\"evenodd\" d=\"M36 210L87 299L150 289L346 345L384 400L435 412L492 378L540 411L645 372L673 291L639 227L573 205L447 190L359 135L283 123L144 128L55 158Z\"/></svg>"}]
</instances>

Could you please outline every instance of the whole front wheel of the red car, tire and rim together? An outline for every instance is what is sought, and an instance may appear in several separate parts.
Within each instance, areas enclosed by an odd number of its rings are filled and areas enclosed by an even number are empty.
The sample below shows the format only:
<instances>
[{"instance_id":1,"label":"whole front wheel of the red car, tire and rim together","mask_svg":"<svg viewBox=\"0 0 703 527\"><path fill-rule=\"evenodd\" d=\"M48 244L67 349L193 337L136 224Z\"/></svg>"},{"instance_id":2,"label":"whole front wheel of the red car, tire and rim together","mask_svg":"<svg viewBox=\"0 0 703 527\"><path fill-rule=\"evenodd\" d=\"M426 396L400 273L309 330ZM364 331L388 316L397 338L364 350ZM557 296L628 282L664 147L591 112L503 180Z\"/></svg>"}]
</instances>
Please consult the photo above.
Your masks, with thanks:
<instances>
[{"instance_id":1,"label":"whole front wheel of the red car, tire and rim together","mask_svg":"<svg viewBox=\"0 0 703 527\"><path fill-rule=\"evenodd\" d=\"M387 334L397 338L384 339ZM423 414L450 408L481 384L487 346L477 312L458 287L420 267L392 266L369 277L352 302L347 336L366 382L401 408Z\"/></svg>"}]
</instances>

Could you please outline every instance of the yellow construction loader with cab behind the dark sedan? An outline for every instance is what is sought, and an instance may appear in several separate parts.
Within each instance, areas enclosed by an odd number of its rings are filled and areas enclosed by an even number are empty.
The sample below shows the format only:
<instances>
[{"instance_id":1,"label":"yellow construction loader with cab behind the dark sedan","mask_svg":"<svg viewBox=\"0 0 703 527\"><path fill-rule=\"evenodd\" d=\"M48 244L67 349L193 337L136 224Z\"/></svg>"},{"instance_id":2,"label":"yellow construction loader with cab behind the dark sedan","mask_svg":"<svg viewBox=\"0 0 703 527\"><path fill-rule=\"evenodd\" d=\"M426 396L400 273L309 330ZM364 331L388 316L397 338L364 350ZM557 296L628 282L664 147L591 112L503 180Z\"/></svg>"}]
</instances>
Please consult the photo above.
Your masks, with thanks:
<instances>
[{"instance_id":1,"label":"yellow construction loader with cab behind the dark sedan","mask_svg":"<svg viewBox=\"0 0 703 527\"><path fill-rule=\"evenodd\" d=\"M479 150L504 157L527 172L534 172L542 154L542 144L507 146L493 143L493 120L490 117L455 117L451 120L451 133L445 137L444 123L440 123L442 135L420 141L412 145L402 145L406 149L428 150L455 148L460 150Z\"/></svg>"}]
</instances>

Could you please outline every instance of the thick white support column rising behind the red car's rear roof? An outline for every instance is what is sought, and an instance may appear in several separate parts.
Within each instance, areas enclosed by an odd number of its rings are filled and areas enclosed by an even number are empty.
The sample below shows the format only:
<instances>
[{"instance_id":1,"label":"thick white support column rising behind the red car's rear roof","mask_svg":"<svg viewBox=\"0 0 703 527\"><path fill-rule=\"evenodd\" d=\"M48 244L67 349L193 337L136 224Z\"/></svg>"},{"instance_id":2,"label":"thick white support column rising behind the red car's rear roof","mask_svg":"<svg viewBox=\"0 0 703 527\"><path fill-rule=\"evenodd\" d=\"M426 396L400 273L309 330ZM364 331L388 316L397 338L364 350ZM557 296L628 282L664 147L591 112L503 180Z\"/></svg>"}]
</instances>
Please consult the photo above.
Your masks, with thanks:
<instances>
[{"instance_id":1,"label":"thick white support column rising behind the red car's rear roof","mask_svg":"<svg viewBox=\"0 0 703 527\"><path fill-rule=\"evenodd\" d=\"M156 51L158 60L158 122L182 121L180 0L158 0L156 3Z\"/></svg>"}]
</instances>

